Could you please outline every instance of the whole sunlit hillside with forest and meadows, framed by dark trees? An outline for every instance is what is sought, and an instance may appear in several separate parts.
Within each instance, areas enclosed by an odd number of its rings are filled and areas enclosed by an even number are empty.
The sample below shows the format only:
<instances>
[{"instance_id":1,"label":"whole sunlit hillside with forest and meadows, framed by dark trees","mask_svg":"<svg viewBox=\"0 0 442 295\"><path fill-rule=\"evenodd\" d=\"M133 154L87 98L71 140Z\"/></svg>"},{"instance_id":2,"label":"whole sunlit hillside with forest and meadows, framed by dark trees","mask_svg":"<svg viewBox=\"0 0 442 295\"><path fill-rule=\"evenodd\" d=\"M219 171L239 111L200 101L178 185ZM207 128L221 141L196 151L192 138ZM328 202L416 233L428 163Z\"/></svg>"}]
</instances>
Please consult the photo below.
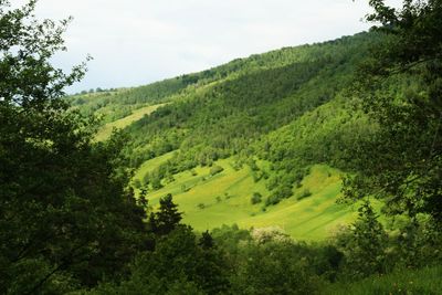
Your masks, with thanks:
<instances>
[{"instance_id":1,"label":"whole sunlit hillside with forest and meadows, framed by dark trees","mask_svg":"<svg viewBox=\"0 0 442 295\"><path fill-rule=\"evenodd\" d=\"M86 114L104 114L98 139L113 126L128 134L127 156L137 169L133 185L151 204L172 193L185 220L199 230L278 225L298 239L324 239L356 212L334 204L340 190L336 173L327 180L330 192L318 189L320 173L314 186L303 179L317 164L349 171L348 149L375 133L350 85L357 64L381 40L360 33L285 48L148 86L70 99ZM129 115L114 120L110 109ZM254 193L260 197L252 201ZM308 226L291 214L311 219Z\"/></svg>"}]
</instances>

